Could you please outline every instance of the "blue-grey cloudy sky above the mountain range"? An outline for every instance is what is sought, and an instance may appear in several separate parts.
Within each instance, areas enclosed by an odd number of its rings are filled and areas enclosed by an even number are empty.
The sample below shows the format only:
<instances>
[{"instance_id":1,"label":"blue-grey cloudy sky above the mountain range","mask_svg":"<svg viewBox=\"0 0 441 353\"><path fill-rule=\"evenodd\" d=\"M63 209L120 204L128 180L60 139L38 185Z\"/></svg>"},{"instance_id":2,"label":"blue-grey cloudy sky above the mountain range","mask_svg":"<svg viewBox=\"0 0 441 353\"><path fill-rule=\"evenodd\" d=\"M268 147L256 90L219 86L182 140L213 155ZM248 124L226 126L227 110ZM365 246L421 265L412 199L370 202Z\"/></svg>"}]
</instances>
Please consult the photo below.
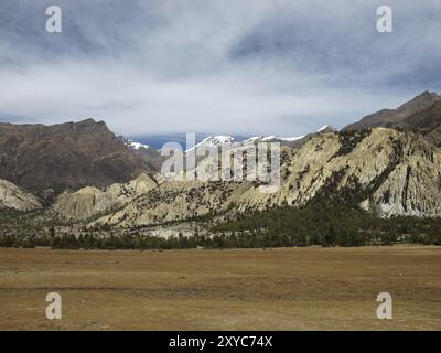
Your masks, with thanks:
<instances>
[{"instance_id":1,"label":"blue-grey cloudy sky above the mountain range","mask_svg":"<svg viewBox=\"0 0 441 353\"><path fill-rule=\"evenodd\" d=\"M440 92L440 0L0 2L0 121L298 136Z\"/></svg>"}]
</instances>

